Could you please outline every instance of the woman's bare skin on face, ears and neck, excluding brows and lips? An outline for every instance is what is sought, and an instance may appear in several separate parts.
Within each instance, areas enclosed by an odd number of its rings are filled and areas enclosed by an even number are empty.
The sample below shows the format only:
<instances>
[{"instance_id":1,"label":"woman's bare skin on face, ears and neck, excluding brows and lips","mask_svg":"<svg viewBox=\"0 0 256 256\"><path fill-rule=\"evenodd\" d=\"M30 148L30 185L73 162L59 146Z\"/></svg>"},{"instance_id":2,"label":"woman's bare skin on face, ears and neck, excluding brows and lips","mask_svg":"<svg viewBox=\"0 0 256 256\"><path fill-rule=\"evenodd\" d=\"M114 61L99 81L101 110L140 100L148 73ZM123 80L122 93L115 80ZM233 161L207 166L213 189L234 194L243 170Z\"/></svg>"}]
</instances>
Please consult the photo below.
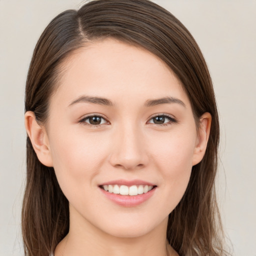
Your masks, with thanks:
<instances>
[{"instance_id":1,"label":"woman's bare skin on face, ears and neck, excluding brows and lips","mask_svg":"<svg viewBox=\"0 0 256 256\"><path fill-rule=\"evenodd\" d=\"M53 166L69 201L70 229L60 255L177 255L166 245L168 214L180 201L191 168L205 152L211 116L196 130L189 99L169 67L140 47L97 41L62 63L60 85L50 99L46 125L26 112L25 126L39 160ZM112 105L74 102L82 95ZM174 97L181 103L144 106ZM167 114L162 124L155 115ZM88 115L103 116L89 124ZM82 120L82 121L81 121ZM143 203L125 207L99 184L142 179L156 185Z\"/></svg>"}]
</instances>

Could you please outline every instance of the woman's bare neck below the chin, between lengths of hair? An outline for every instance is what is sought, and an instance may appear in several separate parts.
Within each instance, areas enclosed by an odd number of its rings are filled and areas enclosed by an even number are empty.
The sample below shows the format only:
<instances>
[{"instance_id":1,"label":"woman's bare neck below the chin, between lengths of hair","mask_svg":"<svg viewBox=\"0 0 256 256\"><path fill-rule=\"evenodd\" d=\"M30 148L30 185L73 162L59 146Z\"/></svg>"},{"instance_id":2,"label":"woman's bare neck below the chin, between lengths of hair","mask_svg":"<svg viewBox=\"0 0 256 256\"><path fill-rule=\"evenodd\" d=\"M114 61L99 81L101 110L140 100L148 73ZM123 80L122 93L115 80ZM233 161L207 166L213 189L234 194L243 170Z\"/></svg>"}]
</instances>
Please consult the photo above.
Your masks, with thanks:
<instances>
[{"instance_id":1,"label":"woman's bare neck below the chin, between lengths of hair","mask_svg":"<svg viewBox=\"0 0 256 256\"><path fill-rule=\"evenodd\" d=\"M153 230L133 237L106 233L81 216L70 214L67 236L57 245L54 256L174 256L166 242L167 217Z\"/></svg>"}]
</instances>

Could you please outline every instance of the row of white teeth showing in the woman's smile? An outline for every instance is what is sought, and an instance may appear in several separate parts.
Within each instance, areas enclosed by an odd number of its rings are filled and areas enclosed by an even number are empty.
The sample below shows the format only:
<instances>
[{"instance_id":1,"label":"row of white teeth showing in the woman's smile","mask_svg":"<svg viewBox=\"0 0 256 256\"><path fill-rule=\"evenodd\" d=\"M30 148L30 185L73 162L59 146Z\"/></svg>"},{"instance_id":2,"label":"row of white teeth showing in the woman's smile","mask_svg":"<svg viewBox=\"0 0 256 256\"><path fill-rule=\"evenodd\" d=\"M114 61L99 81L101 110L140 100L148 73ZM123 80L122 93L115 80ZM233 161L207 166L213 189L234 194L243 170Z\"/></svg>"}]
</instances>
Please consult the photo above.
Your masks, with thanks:
<instances>
[{"instance_id":1,"label":"row of white teeth showing in the woman's smile","mask_svg":"<svg viewBox=\"0 0 256 256\"><path fill-rule=\"evenodd\" d=\"M121 194L121 195L138 195L143 194L148 191L150 191L153 188L151 185L132 185L132 186L126 186L126 185L120 185L120 187L115 185L103 185L103 189L105 191L108 191L109 193L114 194Z\"/></svg>"}]
</instances>

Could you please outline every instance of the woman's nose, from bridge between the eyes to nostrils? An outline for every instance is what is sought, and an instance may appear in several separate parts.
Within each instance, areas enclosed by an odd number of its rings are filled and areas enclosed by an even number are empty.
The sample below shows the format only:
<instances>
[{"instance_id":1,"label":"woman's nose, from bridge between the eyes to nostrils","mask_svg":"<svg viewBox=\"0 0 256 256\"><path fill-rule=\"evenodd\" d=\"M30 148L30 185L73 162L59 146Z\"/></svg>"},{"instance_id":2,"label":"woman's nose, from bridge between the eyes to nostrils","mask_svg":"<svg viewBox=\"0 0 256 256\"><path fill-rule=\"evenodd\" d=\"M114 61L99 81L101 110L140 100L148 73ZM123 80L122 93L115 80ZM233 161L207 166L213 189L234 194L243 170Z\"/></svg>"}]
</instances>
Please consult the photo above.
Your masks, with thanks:
<instances>
[{"instance_id":1,"label":"woman's nose, from bridge between the eyes to nostrils","mask_svg":"<svg viewBox=\"0 0 256 256\"><path fill-rule=\"evenodd\" d=\"M135 125L134 125L135 126ZM135 126L122 126L113 134L110 164L126 170L140 169L147 165L149 157L142 132Z\"/></svg>"}]
</instances>

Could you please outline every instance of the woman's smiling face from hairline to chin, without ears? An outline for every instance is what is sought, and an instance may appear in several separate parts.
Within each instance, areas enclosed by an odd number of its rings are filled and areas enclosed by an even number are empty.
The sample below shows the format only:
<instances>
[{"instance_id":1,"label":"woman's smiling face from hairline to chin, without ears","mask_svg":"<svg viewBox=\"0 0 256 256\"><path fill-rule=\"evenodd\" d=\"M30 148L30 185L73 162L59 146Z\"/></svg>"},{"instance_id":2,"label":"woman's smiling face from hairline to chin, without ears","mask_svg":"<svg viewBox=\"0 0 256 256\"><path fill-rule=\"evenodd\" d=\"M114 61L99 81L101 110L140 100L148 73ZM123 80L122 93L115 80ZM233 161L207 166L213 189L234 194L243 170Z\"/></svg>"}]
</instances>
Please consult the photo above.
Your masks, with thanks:
<instances>
[{"instance_id":1,"label":"woman's smiling face from hairline to chin, without ears","mask_svg":"<svg viewBox=\"0 0 256 256\"><path fill-rule=\"evenodd\" d=\"M62 68L47 146L70 223L121 237L166 228L198 162L180 83L155 55L114 39L77 50Z\"/></svg>"}]
</instances>

